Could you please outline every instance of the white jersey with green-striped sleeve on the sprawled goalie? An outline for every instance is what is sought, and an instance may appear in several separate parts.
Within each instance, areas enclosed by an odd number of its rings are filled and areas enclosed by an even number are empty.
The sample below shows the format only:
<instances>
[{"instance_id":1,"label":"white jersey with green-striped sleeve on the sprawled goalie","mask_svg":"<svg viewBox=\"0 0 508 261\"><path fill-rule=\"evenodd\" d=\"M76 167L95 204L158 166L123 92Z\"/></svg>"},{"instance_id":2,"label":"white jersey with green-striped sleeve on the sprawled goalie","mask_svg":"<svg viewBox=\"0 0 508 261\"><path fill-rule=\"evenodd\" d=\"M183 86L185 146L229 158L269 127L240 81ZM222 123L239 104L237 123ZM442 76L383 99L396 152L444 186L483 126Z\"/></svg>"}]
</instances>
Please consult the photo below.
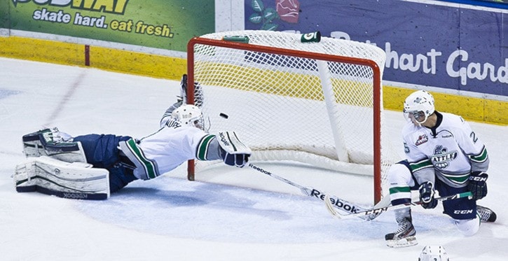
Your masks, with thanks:
<instances>
[{"instance_id":1,"label":"white jersey with green-striped sleeve on the sprawled goalie","mask_svg":"<svg viewBox=\"0 0 508 261\"><path fill-rule=\"evenodd\" d=\"M119 145L136 165L134 176L147 180L165 174L187 160L218 160L219 147L212 146L214 139L213 134L170 120L158 132L139 141L122 141Z\"/></svg>"}]
</instances>

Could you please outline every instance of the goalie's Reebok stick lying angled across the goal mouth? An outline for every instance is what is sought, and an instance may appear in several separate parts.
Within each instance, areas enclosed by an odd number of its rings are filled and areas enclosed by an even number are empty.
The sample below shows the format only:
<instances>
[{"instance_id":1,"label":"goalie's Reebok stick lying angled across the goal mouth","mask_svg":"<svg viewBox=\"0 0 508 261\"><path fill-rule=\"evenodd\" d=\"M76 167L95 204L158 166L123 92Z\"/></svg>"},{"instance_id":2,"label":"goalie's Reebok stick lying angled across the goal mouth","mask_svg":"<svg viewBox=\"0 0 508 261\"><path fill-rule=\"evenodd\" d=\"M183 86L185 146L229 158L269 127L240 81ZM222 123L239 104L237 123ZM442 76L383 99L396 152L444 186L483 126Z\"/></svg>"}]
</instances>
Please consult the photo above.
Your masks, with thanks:
<instances>
[{"instance_id":1,"label":"goalie's Reebok stick lying angled across the goal mouth","mask_svg":"<svg viewBox=\"0 0 508 261\"><path fill-rule=\"evenodd\" d=\"M308 197L315 197L316 199L320 199L322 201L324 201L325 198L329 198L329 199L333 200L334 204L331 204L329 206L332 209L336 208L336 209L339 209L341 211L345 211L345 212L349 213L349 215L353 215L355 213L363 213L364 211L367 210L364 206L359 206L358 204L354 204L354 203L345 201L344 199L340 199L340 198L338 198L336 196L331 196L330 197L329 195L327 195L327 193L321 192L320 190L317 190L315 188L308 188L308 187L304 187L303 185L298 185L298 184L296 184L296 183L294 183L292 181L287 180L286 178L282 178L281 176L277 176L277 175L271 173L270 171L266 171L265 169L263 169L261 167L258 167L258 166L254 165L252 163L249 163L249 167L251 167L252 169L255 169L256 171L261 172L262 174L266 174L266 175L268 175L268 176L270 176L272 178L276 178L279 181L282 181L284 183L292 185L295 188L298 188L299 190L301 190L303 195L306 195ZM362 218L364 220L373 220L377 216L373 216L373 215L371 215L371 216L358 215L357 217L358 218Z\"/></svg>"}]
</instances>

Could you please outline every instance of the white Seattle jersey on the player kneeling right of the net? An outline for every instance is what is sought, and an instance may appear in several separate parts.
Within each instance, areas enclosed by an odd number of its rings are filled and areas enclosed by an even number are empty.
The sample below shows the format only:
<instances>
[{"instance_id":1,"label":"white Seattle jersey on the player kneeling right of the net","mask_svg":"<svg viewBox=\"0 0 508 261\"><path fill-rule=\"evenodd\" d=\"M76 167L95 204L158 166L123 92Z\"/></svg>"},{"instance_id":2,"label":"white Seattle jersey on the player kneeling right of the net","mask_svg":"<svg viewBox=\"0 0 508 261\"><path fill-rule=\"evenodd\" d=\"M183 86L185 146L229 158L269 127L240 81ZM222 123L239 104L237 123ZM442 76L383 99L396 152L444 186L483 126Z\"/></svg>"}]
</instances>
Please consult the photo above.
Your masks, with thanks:
<instances>
[{"instance_id":1,"label":"white Seattle jersey on the player kneeling right of the net","mask_svg":"<svg viewBox=\"0 0 508 261\"><path fill-rule=\"evenodd\" d=\"M437 177L454 188L463 187L472 171L487 171L486 147L462 117L436 113L433 128L408 122L402 129L411 171L418 183L434 183Z\"/></svg>"}]
</instances>

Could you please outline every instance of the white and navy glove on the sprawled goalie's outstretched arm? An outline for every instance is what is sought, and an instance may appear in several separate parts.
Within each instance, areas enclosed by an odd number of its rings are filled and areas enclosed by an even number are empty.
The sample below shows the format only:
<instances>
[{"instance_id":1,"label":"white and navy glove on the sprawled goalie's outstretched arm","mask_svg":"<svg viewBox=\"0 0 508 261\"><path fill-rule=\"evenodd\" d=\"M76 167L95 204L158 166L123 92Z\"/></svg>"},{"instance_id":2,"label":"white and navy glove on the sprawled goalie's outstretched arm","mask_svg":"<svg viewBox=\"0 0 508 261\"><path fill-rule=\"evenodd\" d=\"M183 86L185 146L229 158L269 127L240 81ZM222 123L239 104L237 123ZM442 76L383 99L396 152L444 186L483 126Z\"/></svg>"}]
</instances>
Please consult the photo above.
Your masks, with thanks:
<instances>
[{"instance_id":1,"label":"white and navy glove on the sprawled goalie's outstretched arm","mask_svg":"<svg viewBox=\"0 0 508 261\"><path fill-rule=\"evenodd\" d=\"M217 141L221 146L221 157L229 166L244 167L252 150L238 139L235 132L219 132Z\"/></svg>"}]
</instances>

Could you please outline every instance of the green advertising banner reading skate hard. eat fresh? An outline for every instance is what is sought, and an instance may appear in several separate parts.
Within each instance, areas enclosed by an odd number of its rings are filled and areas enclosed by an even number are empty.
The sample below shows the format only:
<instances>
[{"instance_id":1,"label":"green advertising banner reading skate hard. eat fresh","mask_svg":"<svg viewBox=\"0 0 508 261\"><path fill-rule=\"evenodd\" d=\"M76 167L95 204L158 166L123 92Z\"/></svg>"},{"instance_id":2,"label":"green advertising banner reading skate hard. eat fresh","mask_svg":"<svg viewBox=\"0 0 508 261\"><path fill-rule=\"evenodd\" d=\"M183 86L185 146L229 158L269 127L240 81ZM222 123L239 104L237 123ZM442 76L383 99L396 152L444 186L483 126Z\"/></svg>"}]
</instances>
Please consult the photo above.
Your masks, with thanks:
<instances>
[{"instance_id":1,"label":"green advertising banner reading skate hard. eat fresh","mask_svg":"<svg viewBox=\"0 0 508 261\"><path fill-rule=\"evenodd\" d=\"M4 28L149 48L186 51L190 38L215 29L214 0L0 1Z\"/></svg>"}]
</instances>

